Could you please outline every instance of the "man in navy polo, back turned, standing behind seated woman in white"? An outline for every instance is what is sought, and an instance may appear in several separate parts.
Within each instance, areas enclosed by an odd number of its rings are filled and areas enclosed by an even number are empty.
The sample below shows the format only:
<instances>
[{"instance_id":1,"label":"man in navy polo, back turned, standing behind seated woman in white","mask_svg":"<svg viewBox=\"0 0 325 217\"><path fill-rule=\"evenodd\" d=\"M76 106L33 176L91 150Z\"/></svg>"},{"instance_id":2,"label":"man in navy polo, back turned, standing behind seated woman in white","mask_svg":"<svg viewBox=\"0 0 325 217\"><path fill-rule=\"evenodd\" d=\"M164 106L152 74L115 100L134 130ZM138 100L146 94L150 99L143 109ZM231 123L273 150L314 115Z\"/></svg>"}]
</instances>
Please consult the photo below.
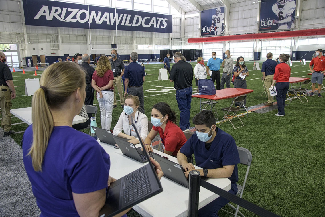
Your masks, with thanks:
<instances>
[{"instance_id":1,"label":"man in navy polo, back turned, standing behind seated woman in white","mask_svg":"<svg viewBox=\"0 0 325 217\"><path fill-rule=\"evenodd\" d=\"M140 64L136 63L138 59L138 54L132 52L130 55L130 65L125 67L124 70L124 85L125 90L129 87L129 95L138 96L140 100L140 106L138 111L144 114L143 105L143 82L144 82L144 69ZM124 92L124 97L126 96L126 91Z\"/></svg>"}]
</instances>

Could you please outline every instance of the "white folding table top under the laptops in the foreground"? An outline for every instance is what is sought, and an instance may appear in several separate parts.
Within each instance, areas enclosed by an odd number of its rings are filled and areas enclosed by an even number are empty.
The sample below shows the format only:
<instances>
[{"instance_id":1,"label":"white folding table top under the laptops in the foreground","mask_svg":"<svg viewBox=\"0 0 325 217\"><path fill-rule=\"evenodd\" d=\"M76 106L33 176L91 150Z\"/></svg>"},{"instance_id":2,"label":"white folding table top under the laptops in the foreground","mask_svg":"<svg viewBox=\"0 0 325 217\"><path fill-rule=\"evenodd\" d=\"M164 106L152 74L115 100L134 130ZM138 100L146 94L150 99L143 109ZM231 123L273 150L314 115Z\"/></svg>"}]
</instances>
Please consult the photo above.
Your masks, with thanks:
<instances>
[{"instance_id":1,"label":"white folding table top under the laptops in the foreground","mask_svg":"<svg viewBox=\"0 0 325 217\"><path fill-rule=\"evenodd\" d=\"M99 140L98 140L99 142ZM116 149L113 146L99 142L99 144L110 155L110 176L119 179L126 174L135 171L136 169L144 166L145 164L126 157L122 154L120 149ZM138 144L136 147L140 147ZM166 156L169 160L177 162L175 157L164 154L160 151L153 150L153 152ZM200 167L195 166L197 169ZM177 183L162 177L160 180L163 191L158 195L149 198L133 207L135 211L142 216L187 216L188 215L188 189L178 185ZM209 178L207 182L222 188L226 191L231 189L231 182L228 178ZM199 209L212 202L219 196L213 192L201 187L199 196Z\"/></svg>"}]
</instances>

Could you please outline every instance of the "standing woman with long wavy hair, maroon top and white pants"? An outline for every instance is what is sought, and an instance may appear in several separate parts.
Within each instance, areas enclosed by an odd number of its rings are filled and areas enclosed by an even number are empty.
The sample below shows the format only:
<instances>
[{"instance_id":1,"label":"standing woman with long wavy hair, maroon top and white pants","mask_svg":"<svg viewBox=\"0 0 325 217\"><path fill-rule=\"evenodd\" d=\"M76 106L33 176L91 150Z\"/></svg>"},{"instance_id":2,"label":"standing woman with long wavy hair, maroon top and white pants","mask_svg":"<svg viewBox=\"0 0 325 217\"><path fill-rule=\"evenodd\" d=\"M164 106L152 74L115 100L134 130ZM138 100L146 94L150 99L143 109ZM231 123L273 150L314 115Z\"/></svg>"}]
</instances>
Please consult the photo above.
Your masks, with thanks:
<instances>
[{"instance_id":1,"label":"standing woman with long wavy hair, maroon top and white pants","mask_svg":"<svg viewBox=\"0 0 325 217\"><path fill-rule=\"evenodd\" d=\"M91 80L91 86L97 91L101 127L105 130L110 130L113 117L114 87L112 85L114 75L111 69L108 57L101 56Z\"/></svg>"}]
</instances>

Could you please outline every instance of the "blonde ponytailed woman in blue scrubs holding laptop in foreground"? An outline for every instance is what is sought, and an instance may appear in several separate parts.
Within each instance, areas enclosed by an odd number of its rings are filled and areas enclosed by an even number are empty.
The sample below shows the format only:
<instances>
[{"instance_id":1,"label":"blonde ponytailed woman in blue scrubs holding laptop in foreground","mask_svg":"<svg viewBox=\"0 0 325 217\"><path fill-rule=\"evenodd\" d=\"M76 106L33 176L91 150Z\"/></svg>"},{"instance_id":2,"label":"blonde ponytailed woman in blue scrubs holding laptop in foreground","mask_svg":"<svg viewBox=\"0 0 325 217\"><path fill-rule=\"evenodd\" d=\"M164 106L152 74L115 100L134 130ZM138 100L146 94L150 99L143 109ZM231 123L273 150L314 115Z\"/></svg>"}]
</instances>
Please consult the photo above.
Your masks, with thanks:
<instances>
[{"instance_id":1,"label":"blonde ponytailed woman in blue scrubs holding laptop in foreground","mask_svg":"<svg viewBox=\"0 0 325 217\"><path fill-rule=\"evenodd\" d=\"M99 216L115 179L109 176L105 150L93 137L72 128L85 101L85 72L77 64L53 64L43 72L40 85L22 151L41 216ZM161 178L159 164L150 160Z\"/></svg>"}]
</instances>

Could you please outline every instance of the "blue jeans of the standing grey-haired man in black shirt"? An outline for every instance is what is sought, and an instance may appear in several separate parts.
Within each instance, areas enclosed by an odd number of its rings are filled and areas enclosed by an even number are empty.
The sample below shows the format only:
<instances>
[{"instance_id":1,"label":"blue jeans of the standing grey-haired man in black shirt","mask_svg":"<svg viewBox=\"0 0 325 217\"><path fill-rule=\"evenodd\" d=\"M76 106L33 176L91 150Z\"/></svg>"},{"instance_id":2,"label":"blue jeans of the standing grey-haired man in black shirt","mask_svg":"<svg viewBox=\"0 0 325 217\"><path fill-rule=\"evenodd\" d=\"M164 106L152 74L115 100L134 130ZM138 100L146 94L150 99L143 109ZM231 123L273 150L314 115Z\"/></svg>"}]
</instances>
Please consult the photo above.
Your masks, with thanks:
<instances>
[{"instance_id":1,"label":"blue jeans of the standing grey-haired man in black shirt","mask_svg":"<svg viewBox=\"0 0 325 217\"><path fill-rule=\"evenodd\" d=\"M191 109L192 92L192 86L176 90L176 100L179 111L181 112L179 118L179 127L181 130L189 129L189 115Z\"/></svg>"}]
</instances>

